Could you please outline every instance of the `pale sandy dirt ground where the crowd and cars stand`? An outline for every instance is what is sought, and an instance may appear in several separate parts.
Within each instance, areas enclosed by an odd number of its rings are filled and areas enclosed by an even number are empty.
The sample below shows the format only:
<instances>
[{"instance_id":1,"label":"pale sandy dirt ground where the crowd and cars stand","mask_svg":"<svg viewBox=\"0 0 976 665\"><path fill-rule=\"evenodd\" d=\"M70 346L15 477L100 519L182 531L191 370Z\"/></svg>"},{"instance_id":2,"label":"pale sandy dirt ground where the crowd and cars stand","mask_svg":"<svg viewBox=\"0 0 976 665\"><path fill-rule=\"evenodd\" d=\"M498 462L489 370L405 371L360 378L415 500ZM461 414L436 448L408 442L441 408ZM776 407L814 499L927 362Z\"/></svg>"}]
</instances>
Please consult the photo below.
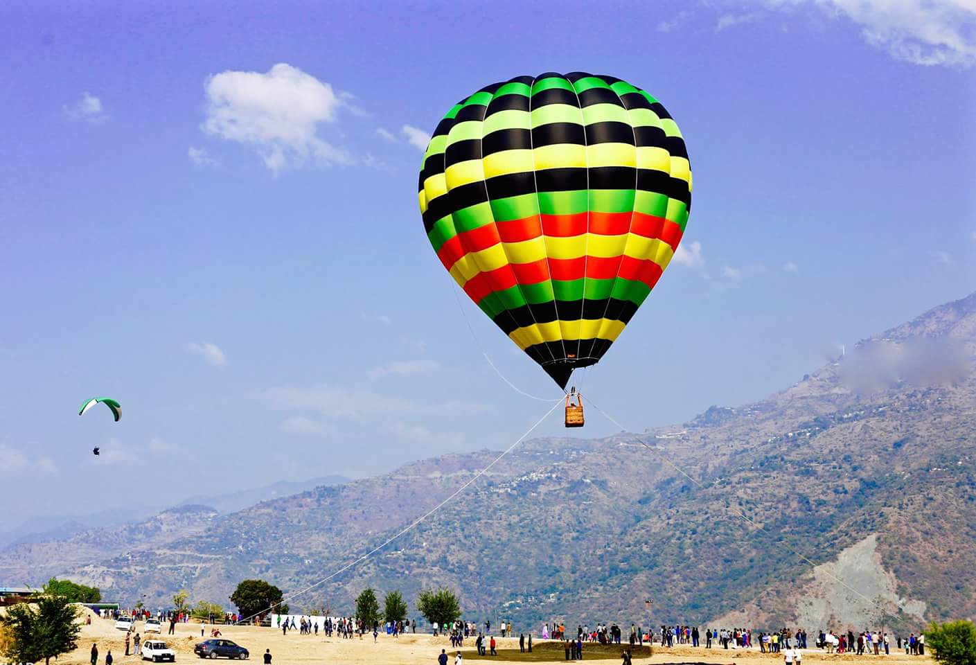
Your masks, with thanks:
<instances>
[{"instance_id":1,"label":"pale sandy dirt ground where the crowd and cars stand","mask_svg":"<svg viewBox=\"0 0 976 665\"><path fill-rule=\"evenodd\" d=\"M142 633L142 622L136 624L137 632ZM193 645L200 642L200 624L180 624L176 627L175 636L167 636L165 633L168 624L163 626L161 639L177 652L177 662L196 662L197 657L193 654ZM305 636L299 635L298 631L290 631L287 636L283 636L281 631L273 628L256 628L246 626L222 627L222 637L233 640L237 644L245 646L251 651L251 661L260 665L263 663L262 656L264 649L269 648L273 656L272 665L291 665L293 663L341 663L349 665L386 665L404 663L413 665L424 663L425 665L436 665L437 656L440 650L447 649L451 654L449 663L454 663L454 653L450 641L447 638L434 638L430 635L405 635L400 638L391 638L381 635L376 644L373 643L373 636L365 635L362 640L358 637L352 640L342 640L339 638L324 638L319 635ZM92 644L99 645L99 664L104 663L105 653L111 649L114 659L113 665L138 665L140 662L136 656L123 655L125 653L124 633L115 630L114 622L94 618L92 625L84 626L82 637L78 643L78 648L70 654L62 656L57 665L88 665ZM153 635L153 638L156 636ZM209 637L209 627L208 627ZM174 639L175 638L175 639ZM466 661L506 661L522 660L518 652L518 639L499 639L499 656L479 658L474 652L473 640L468 639L462 649ZM534 649L532 658L534 662L564 662L562 648L549 645L542 641L535 642L534 646L542 648ZM620 663L620 648L615 648L612 653L597 654L587 652L587 645L584 645L584 659L596 663ZM540 657L542 656L542 657ZM548 657L547 657L548 656ZM544 659L545 658L545 659ZM869 656L860 657L852 655L836 655L822 653L817 649L804 651L804 665L816 665L834 661L856 662L856 661L884 661L891 665L933 665L929 656L906 656L902 654L892 654L889 656ZM54 662L54 661L52 661ZM224 662L224 661L222 661ZM763 665L768 663L783 662L782 656L760 654L752 650L724 650L724 649L705 649L691 647L656 648L651 657L634 658L634 663L649 663L653 665L664 665L667 663L710 663L710 664L729 664L747 663L747 665ZM148 663L148 661L146 661Z\"/></svg>"}]
</instances>

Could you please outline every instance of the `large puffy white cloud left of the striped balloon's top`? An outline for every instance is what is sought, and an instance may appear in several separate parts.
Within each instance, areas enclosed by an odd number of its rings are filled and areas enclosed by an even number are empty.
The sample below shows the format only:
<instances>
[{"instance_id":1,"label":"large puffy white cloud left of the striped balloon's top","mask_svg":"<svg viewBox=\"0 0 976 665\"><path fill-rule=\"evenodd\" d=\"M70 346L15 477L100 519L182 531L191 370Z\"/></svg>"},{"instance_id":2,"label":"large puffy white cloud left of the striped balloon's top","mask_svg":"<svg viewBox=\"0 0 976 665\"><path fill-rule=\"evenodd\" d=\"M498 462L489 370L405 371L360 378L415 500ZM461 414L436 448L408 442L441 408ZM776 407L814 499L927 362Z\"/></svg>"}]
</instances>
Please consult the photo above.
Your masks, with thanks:
<instances>
[{"instance_id":1,"label":"large puffy white cloud left of the striped balloon's top","mask_svg":"<svg viewBox=\"0 0 976 665\"><path fill-rule=\"evenodd\" d=\"M345 150L318 136L336 120L348 95L284 62L266 72L224 71L206 83L207 134L253 146L274 173L286 166L351 163Z\"/></svg>"}]
</instances>

